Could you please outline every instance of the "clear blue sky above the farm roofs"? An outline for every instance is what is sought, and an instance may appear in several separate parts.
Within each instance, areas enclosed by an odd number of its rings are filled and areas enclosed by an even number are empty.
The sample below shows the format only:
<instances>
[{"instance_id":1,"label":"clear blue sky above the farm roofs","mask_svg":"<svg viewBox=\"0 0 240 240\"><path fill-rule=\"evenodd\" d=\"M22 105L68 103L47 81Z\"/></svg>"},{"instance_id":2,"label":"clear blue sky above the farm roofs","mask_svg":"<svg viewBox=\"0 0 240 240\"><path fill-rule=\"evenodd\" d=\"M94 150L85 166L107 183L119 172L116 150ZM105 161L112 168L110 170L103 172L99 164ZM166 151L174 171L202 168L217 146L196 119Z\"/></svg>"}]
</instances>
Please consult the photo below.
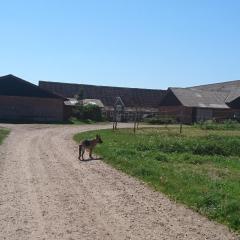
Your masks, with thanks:
<instances>
[{"instance_id":1,"label":"clear blue sky above the farm roofs","mask_svg":"<svg viewBox=\"0 0 240 240\"><path fill-rule=\"evenodd\" d=\"M0 0L0 75L165 89L240 79L239 0Z\"/></svg>"}]
</instances>

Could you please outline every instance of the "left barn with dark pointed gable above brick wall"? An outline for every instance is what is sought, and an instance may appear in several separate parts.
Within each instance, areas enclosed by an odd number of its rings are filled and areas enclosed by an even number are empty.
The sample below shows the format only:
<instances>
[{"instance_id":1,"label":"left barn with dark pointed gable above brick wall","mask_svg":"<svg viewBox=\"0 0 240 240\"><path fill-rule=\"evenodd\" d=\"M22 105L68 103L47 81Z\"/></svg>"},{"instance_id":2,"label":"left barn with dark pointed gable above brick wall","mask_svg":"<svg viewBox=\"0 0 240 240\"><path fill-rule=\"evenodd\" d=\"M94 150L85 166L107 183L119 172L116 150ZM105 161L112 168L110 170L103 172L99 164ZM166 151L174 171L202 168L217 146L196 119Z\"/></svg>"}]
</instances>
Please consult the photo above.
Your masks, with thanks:
<instances>
[{"instance_id":1,"label":"left barn with dark pointed gable above brick wall","mask_svg":"<svg viewBox=\"0 0 240 240\"><path fill-rule=\"evenodd\" d=\"M13 75L0 77L0 120L62 121L64 100Z\"/></svg>"}]
</instances>

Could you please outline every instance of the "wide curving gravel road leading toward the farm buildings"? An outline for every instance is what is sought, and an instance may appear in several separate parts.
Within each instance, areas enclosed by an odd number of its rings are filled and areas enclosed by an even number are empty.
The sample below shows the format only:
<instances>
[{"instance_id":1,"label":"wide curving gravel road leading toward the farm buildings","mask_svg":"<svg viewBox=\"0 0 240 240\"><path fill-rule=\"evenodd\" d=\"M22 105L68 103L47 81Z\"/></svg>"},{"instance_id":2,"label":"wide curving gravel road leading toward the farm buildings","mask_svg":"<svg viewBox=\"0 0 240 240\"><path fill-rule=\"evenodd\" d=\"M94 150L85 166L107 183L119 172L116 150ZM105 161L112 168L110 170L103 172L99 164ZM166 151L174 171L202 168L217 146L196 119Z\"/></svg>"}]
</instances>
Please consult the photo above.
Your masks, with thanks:
<instances>
[{"instance_id":1,"label":"wide curving gravel road leading toward the farm buildings","mask_svg":"<svg viewBox=\"0 0 240 240\"><path fill-rule=\"evenodd\" d=\"M102 161L72 135L107 126L17 125L0 146L0 239L237 239Z\"/></svg>"}]
</instances>

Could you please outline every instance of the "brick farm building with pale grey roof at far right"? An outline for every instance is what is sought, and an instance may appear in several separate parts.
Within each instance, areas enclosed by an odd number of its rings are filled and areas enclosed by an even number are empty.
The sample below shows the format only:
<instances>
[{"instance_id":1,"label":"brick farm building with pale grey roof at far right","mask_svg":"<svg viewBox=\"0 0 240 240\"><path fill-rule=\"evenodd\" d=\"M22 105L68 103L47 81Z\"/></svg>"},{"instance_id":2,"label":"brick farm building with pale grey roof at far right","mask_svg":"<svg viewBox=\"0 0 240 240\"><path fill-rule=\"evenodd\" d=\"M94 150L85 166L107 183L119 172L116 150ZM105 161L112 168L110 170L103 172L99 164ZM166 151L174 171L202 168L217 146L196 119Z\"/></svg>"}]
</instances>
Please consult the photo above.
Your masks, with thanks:
<instances>
[{"instance_id":1,"label":"brick farm building with pale grey roof at far right","mask_svg":"<svg viewBox=\"0 0 240 240\"><path fill-rule=\"evenodd\" d=\"M191 88L169 88L160 103L160 115L193 123L239 118L240 81Z\"/></svg>"}]
</instances>

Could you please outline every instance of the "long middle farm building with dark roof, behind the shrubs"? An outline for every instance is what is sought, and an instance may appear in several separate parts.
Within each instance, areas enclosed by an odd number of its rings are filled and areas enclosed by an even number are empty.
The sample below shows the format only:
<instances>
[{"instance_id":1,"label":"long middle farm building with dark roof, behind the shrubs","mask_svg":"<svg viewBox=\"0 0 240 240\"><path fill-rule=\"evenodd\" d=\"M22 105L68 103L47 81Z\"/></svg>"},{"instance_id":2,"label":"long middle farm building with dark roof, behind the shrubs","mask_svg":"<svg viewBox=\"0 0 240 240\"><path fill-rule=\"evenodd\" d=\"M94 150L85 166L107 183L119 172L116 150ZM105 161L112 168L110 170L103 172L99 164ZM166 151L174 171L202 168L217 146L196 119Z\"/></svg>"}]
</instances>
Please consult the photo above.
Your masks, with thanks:
<instances>
[{"instance_id":1,"label":"long middle farm building with dark roof, behind the shrubs","mask_svg":"<svg viewBox=\"0 0 240 240\"><path fill-rule=\"evenodd\" d=\"M124 108L121 121L133 120L136 112L141 116L158 114L159 104L166 90L139 89L95 86L86 84L70 84L59 82L39 81L39 87L51 91L74 103L74 98L82 92L83 99L88 101L99 100L103 104L102 112L107 119L112 120L114 106L118 102ZM85 101L86 101L85 100ZM69 105L69 101L67 103Z\"/></svg>"}]
</instances>

